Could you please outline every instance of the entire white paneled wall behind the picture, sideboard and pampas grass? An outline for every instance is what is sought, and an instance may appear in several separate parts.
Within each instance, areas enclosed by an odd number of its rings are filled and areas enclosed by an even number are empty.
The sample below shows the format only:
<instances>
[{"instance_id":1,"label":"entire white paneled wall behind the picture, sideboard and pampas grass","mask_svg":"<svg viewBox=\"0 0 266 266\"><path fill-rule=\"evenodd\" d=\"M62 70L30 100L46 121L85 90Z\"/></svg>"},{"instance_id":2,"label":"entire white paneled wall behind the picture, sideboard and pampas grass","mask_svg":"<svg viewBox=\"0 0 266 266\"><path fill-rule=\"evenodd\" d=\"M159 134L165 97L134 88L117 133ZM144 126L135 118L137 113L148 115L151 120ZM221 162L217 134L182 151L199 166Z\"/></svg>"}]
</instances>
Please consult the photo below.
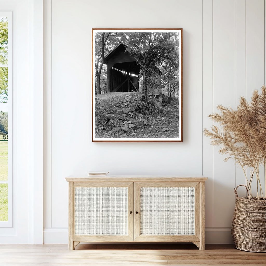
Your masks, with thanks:
<instances>
[{"instance_id":1,"label":"entire white paneled wall behind the picture, sideboard and pampas grass","mask_svg":"<svg viewBox=\"0 0 266 266\"><path fill-rule=\"evenodd\" d=\"M151 5L152 2L152 5ZM114 8L115 7L115 8ZM235 184L203 137L265 82L264 0L44 1L44 243L67 243L69 174L203 174L206 242L230 243ZM183 28L183 143L91 142L91 29Z\"/></svg>"}]
</instances>

